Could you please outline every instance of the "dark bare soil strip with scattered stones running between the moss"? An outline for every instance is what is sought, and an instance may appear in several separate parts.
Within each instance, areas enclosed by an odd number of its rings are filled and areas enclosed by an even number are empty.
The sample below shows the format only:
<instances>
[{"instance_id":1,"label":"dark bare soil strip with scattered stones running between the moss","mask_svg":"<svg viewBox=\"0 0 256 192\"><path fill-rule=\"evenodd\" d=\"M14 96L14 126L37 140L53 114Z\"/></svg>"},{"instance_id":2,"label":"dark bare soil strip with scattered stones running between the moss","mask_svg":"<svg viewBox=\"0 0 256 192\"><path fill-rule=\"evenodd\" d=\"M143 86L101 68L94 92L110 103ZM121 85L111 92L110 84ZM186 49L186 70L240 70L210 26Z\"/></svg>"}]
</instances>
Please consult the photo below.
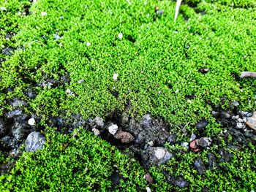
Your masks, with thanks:
<instances>
[{"instance_id":1,"label":"dark bare soil strip with scattered stones running between the moss","mask_svg":"<svg viewBox=\"0 0 256 192\"><path fill-rule=\"evenodd\" d=\"M54 83L50 83L53 85ZM29 92L32 95L32 93ZM37 115L26 115L23 107L26 102L20 99L11 99L10 104L15 110L4 112L0 116L0 148L1 151L12 158L8 164L1 165L1 174L10 171L19 155L23 153L20 145L24 143L25 151L34 152L39 150L45 144L45 136L41 134L44 127L39 126L41 118ZM80 115L73 115L68 119L60 117L49 117L48 126L56 127L61 132L72 133L74 128L80 126L92 131L97 137L101 137L110 144L115 145L120 150L129 149L127 155L138 159L146 169L151 166L160 166L166 164L170 158L175 157L176 151L170 151L166 146L180 145L184 147L184 153L200 153L200 151L210 148L214 143L219 143L219 139L228 141L232 137L234 142L227 143L230 148L242 149L249 142L256 142L256 113L237 111L237 102L231 104L229 111L215 109L212 115L216 118L217 123L223 128L218 137L206 137L204 131L208 126L208 121L200 120L195 126L197 132L192 134L189 142L178 142L177 134L173 132L172 126L162 119L144 115L141 120L129 117L127 112L113 112L108 115L106 120L100 117L93 119L83 119ZM184 131L184 127L181 127ZM208 164L203 164L201 158L195 159L195 168L198 174L203 174L206 169L217 167L219 163L228 162L232 155L227 149L220 149L219 155L222 156L220 161L213 153L208 153ZM164 172L165 173L165 172ZM167 180L180 188L189 185L187 180L182 177L173 178L165 173ZM118 182L121 177L118 172L113 175L113 182ZM148 183L152 183L151 175L145 176Z\"/></svg>"}]
</instances>

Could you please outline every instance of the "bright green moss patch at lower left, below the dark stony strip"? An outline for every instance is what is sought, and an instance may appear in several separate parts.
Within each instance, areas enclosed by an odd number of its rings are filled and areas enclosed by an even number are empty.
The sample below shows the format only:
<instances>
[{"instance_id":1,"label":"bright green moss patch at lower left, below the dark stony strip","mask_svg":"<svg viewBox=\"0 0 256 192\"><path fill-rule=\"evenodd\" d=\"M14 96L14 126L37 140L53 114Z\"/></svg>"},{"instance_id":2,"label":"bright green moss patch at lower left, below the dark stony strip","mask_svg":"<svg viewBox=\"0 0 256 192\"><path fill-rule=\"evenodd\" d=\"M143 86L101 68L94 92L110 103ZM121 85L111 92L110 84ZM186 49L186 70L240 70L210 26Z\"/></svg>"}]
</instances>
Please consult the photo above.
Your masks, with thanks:
<instances>
[{"instance_id":1,"label":"bright green moss patch at lower left, below the dark stony strip","mask_svg":"<svg viewBox=\"0 0 256 192\"><path fill-rule=\"evenodd\" d=\"M83 128L72 135L48 129L48 144L24 153L10 175L0 177L1 190L10 191L135 191L145 189L144 171L134 160ZM76 135L76 136L75 136ZM120 184L110 180L117 167Z\"/></svg>"}]
</instances>

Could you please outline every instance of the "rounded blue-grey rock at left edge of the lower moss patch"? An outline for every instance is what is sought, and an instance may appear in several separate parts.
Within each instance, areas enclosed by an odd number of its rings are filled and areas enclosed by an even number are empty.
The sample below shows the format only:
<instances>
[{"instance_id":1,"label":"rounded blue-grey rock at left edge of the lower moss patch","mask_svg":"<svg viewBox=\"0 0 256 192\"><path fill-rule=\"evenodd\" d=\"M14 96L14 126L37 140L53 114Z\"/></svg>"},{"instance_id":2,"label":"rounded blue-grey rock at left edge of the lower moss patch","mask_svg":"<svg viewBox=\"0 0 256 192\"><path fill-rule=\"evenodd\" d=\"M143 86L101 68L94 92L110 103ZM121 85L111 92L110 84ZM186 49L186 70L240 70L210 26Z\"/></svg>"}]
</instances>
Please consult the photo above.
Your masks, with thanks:
<instances>
[{"instance_id":1,"label":"rounded blue-grey rock at left edge of the lower moss patch","mask_svg":"<svg viewBox=\"0 0 256 192\"><path fill-rule=\"evenodd\" d=\"M42 149L45 145L45 136L39 132L33 131L26 138L25 141L25 150L29 152L34 152L36 150Z\"/></svg>"}]
</instances>

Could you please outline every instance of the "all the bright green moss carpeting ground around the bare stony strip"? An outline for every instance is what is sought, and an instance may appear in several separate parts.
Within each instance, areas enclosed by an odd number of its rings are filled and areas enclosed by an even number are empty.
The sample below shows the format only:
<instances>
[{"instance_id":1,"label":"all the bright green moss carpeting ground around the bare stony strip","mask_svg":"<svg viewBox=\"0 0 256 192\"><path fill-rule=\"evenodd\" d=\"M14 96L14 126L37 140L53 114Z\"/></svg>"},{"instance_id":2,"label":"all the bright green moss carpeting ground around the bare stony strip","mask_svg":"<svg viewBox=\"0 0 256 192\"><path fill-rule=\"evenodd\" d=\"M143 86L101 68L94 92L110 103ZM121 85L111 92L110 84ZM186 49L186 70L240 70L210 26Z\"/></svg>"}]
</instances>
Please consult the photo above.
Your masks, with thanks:
<instances>
[{"instance_id":1,"label":"all the bright green moss carpeting ground around the bare stony strip","mask_svg":"<svg viewBox=\"0 0 256 192\"><path fill-rule=\"evenodd\" d=\"M6 60L0 69L0 113L12 109L8 99L18 97L28 101L27 113L43 119L74 114L106 117L113 110L124 110L129 100L129 115L135 118L150 113L177 128L187 125L190 132L196 131L198 120L206 118L210 122L206 136L217 136L222 130L211 116L212 106L227 108L232 101L239 101L239 110L253 111L256 107L255 80L237 78L242 71L256 69L255 1L187 3L173 23L174 1L1 0L0 7L7 11L0 10L0 45L19 48L12 55L0 53ZM157 6L165 10L163 15L156 15ZM18 13L25 12L26 7L30 7L29 15ZM6 39L11 32L16 35ZM123 39L118 38L119 33ZM53 34L61 39L54 39ZM209 72L200 73L202 68ZM114 73L118 74L116 81ZM59 80L64 74L70 75L69 84L56 88L36 86L45 77ZM84 82L79 83L82 79ZM34 88L35 99L24 94L26 88ZM75 96L69 96L67 88ZM187 99L190 96L193 99ZM40 126L46 125L42 121ZM97 189L97 183L98 188L108 191L113 164L122 167L121 174L130 175L116 190L128 186L130 191L146 188L145 170L104 141L86 131L74 139L47 130L45 149L24 153L12 173L1 176L1 189L38 191L48 186L50 190L83 187L86 191ZM189 138L180 134L178 139L187 142ZM64 141L70 145L67 150L61 150ZM179 161L173 159L161 169L183 175L192 190L255 188L254 146L233 151L234 158L225 169L209 170L202 177L189 169L194 158L200 155L206 159L207 152L177 153ZM83 153L84 162L79 161L77 153ZM91 159L99 159L99 164ZM124 166L127 164L130 166ZM52 172L45 165L53 167ZM78 172L74 173L74 167ZM86 167L93 170L91 174L82 171ZM159 170L151 169L156 180L151 188L172 190L174 187Z\"/></svg>"}]
</instances>

